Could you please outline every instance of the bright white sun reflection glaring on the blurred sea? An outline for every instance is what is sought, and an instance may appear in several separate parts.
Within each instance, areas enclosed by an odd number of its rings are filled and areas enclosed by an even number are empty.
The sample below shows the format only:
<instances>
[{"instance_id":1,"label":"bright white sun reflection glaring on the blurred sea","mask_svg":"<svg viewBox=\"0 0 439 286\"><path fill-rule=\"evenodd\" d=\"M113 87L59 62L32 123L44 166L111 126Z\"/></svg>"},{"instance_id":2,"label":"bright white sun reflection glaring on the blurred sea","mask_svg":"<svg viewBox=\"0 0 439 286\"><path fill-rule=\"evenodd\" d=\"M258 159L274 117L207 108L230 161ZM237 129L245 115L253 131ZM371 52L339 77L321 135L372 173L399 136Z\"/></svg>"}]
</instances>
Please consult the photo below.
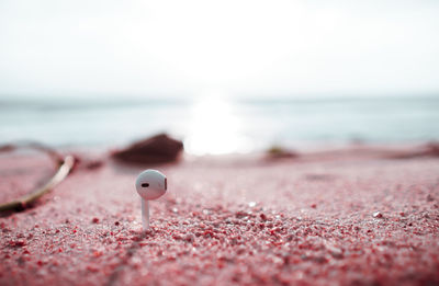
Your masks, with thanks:
<instances>
[{"instance_id":1,"label":"bright white sun reflection glaring on the blurred sea","mask_svg":"<svg viewBox=\"0 0 439 286\"><path fill-rule=\"evenodd\" d=\"M224 98L206 96L194 103L184 148L194 155L222 155L246 150L241 122Z\"/></svg>"}]
</instances>

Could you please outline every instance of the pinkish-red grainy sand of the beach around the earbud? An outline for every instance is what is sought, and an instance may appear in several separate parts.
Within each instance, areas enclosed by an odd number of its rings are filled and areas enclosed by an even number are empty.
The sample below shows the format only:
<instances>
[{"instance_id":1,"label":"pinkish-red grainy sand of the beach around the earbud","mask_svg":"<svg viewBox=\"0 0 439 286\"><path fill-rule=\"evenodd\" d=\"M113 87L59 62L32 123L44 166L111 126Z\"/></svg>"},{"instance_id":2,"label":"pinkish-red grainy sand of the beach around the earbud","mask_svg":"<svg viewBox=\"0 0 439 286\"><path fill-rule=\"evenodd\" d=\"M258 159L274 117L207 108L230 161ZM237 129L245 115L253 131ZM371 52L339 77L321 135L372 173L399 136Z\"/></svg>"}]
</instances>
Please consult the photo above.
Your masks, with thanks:
<instances>
[{"instance_id":1,"label":"pinkish-red grainy sand of the beach around the earbud","mask_svg":"<svg viewBox=\"0 0 439 286\"><path fill-rule=\"evenodd\" d=\"M50 194L0 217L0 284L438 285L439 159L398 151L151 165L168 193L146 233L134 182L148 167L79 152Z\"/></svg>"}]
</instances>

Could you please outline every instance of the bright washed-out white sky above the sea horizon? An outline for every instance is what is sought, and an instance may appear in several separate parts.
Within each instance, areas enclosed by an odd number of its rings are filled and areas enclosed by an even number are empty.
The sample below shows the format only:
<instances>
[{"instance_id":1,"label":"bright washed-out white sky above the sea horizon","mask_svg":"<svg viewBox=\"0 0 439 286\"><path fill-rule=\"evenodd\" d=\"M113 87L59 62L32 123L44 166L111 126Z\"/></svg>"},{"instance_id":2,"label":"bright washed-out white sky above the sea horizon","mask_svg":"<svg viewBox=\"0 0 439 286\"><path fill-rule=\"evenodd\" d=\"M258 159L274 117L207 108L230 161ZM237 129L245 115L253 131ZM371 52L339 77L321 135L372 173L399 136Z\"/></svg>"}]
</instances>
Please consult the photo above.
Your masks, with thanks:
<instances>
[{"instance_id":1,"label":"bright washed-out white sky above the sea horizon","mask_svg":"<svg viewBox=\"0 0 439 286\"><path fill-rule=\"evenodd\" d=\"M436 0L1 0L0 94L436 93L438 15Z\"/></svg>"}]
</instances>

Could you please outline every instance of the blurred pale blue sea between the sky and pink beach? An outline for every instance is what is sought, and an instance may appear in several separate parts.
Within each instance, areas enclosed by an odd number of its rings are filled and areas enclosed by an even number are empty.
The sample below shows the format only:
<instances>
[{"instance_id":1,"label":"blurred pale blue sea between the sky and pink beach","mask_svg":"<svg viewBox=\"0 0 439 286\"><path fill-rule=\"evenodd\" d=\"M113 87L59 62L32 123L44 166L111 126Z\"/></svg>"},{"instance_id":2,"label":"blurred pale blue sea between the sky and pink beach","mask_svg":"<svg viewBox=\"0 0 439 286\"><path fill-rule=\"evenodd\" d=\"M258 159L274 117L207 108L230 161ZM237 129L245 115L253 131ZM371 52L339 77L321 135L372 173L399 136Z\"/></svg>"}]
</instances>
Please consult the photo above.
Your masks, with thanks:
<instances>
[{"instance_id":1,"label":"blurred pale blue sea between the sky and pink beach","mask_svg":"<svg viewBox=\"0 0 439 286\"><path fill-rule=\"evenodd\" d=\"M439 140L439 98L1 100L0 142L115 147L166 131L191 153Z\"/></svg>"}]
</instances>

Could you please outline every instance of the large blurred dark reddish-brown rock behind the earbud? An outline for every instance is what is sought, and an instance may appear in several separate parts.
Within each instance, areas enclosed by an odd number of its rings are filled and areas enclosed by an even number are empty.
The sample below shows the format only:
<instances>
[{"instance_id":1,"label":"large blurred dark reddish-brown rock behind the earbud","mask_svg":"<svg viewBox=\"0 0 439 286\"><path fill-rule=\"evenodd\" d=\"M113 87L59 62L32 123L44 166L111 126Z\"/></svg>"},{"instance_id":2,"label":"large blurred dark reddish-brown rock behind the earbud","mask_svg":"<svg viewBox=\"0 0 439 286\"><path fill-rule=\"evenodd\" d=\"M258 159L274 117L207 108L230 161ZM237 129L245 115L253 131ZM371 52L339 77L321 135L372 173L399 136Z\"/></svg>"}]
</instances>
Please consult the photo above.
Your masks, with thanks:
<instances>
[{"instance_id":1,"label":"large blurred dark reddish-brown rock behind the earbud","mask_svg":"<svg viewBox=\"0 0 439 286\"><path fill-rule=\"evenodd\" d=\"M177 161L182 150L182 141L159 134L113 152L112 158L137 164L168 163Z\"/></svg>"}]
</instances>

